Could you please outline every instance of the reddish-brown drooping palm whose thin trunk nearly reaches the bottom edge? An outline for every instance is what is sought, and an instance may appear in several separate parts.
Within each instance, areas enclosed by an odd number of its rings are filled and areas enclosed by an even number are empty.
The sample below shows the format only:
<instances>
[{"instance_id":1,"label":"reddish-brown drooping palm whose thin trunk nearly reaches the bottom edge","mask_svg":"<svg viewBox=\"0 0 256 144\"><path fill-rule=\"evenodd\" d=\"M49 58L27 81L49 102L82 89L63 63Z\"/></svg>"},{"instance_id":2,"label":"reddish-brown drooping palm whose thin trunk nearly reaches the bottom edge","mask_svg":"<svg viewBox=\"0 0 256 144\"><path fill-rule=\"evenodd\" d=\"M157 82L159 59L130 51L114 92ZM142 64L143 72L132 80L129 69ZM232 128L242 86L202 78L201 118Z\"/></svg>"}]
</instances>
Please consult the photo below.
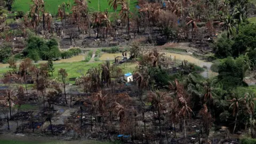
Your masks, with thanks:
<instances>
[{"instance_id":1,"label":"reddish-brown drooping palm whose thin trunk nearly reaches the bottom edge","mask_svg":"<svg viewBox=\"0 0 256 144\"><path fill-rule=\"evenodd\" d=\"M179 111L179 115L181 115L183 117L183 122L184 122L184 130L185 130L185 139L187 141L187 133L186 133L186 118L190 117L190 113L193 113L193 111L191 110L190 107L188 107L187 105L187 101L186 99L182 96L179 98L179 101L181 103L181 109Z\"/></svg>"}]
</instances>

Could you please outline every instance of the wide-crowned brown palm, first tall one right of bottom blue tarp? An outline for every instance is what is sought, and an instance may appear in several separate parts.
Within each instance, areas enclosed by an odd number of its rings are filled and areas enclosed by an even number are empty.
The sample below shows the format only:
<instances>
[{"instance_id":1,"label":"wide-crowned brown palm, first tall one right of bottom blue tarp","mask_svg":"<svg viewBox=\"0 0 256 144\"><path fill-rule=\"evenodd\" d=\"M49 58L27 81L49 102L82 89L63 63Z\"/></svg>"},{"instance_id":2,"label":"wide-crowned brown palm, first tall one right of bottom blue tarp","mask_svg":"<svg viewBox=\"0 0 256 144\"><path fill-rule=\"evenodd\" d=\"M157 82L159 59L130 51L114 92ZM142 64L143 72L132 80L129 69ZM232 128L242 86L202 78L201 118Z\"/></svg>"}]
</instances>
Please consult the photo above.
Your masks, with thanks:
<instances>
[{"instance_id":1,"label":"wide-crowned brown palm, first tall one right of bottom blue tarp","mask_svg":"<svg viewBox=\"0 0 256 144\"><path fill-rule=\"evenodd\" d=\"M164 105L163 102L166 101L165 94L166 93L161 93L158 91L156 93L151 91L147 95L148 102L151 102L151 106L153 106L154 108L157 109L160 135L162 135L162 132L161 132L161 110Z\"/></svg>"}]
</instances>

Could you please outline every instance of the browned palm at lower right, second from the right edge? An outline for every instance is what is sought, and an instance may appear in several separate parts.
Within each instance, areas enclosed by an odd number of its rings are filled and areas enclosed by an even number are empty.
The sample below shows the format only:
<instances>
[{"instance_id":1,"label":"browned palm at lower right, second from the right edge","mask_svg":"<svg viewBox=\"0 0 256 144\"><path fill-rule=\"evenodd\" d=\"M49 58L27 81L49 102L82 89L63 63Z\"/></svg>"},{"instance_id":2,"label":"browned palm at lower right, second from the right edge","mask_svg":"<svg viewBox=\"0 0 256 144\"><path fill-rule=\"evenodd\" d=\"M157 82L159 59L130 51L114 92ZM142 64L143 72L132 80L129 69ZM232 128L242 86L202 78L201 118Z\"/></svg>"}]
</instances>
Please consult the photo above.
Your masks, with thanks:
<instances>
[{"instance_id":1,"label":"browned palm at lower right, second from the right edge","mask_svg":"<svg viewBox=\"0 0 256 144\"><path fill-rule=\"evenodd\" d=\"M237 121L237 115L238 115L238 111L239 111L239 104L244 102L244 98L239 98L237 94L233 94L233 99L228 100L231 102L231 105L229 106L229 109L232 108L233 109L233 116L235 116L235 126L233 129L233 133L235 132L236 129L236 121Z\"/></svg>"}]
</instances>

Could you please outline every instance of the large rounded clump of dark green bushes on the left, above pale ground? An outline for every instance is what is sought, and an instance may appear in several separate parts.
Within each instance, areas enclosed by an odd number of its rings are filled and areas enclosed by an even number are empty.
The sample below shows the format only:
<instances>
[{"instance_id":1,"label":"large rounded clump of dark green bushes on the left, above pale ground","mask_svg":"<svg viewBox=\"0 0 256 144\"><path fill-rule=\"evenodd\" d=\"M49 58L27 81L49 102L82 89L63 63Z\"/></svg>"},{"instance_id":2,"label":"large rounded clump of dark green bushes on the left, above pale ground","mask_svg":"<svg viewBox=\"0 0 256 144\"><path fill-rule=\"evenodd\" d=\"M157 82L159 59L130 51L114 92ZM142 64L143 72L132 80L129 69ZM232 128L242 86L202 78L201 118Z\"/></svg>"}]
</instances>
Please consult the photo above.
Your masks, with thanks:
<instances>
[{"instance_id":1,"label":"large rounded clump of dark green bushes on the left, above pale ground","mask_svg":"<svg viewBox=\"0 0 256 144\"><path fill-rule=\"evenodd\" d=\"M25 57L38 60L48 60L60 59L61 53L58 47L58 42L56 39L50 39L50 41L45 41L43 38L36 36L31 36L28 38L27 47L23 50Z\"/></svg>"}]
</instances>

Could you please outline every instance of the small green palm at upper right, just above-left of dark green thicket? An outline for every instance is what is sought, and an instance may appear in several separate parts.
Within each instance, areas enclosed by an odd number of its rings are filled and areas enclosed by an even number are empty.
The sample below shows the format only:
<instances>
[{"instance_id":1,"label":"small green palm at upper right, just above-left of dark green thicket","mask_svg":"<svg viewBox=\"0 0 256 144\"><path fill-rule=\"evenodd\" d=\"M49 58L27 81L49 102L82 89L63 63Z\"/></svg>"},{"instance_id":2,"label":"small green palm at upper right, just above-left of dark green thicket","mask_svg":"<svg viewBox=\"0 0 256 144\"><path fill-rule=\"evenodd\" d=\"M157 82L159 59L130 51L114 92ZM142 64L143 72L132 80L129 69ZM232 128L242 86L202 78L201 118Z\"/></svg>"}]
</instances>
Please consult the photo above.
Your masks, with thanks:
<instances>
[{"instance_id":1,"label":"small green palm at upper right, just above-left of dark green thicket","mask_svg":"<svg viewBox=\"0 0 256 144\"><path fill-rule=\"evenodd\" d=\"M230 35L236 34L236 28L234 26L234 23L235 23L235 21L231 15L228 15L226 17L225 22L219 23L219 25L226 27L226 29L228 31L228 35L227 35L228 38L230 37Z\"/></svg>"}]
</instances>

